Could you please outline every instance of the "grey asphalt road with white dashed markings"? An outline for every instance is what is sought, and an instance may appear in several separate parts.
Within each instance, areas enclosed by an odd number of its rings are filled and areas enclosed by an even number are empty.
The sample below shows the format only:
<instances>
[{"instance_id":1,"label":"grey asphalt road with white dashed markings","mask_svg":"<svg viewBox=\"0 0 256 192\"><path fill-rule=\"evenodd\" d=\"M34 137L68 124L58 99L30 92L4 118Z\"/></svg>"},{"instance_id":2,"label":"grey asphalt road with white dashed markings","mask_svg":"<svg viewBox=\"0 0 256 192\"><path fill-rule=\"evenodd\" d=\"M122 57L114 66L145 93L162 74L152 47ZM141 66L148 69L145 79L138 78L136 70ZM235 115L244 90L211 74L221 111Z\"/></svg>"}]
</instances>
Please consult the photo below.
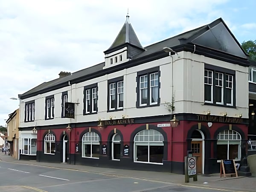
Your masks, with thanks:
<instances>
[{"instance_id":1,"label":"grey asphalt road with white dashed markings","mask_svg":"<svg viewBox=\"0 0 256 192\"><path fill-rule=\"evenodd\" d=\"M0 161L1 192L219 192L159 180Z\"/></svg>"}]
</instances>

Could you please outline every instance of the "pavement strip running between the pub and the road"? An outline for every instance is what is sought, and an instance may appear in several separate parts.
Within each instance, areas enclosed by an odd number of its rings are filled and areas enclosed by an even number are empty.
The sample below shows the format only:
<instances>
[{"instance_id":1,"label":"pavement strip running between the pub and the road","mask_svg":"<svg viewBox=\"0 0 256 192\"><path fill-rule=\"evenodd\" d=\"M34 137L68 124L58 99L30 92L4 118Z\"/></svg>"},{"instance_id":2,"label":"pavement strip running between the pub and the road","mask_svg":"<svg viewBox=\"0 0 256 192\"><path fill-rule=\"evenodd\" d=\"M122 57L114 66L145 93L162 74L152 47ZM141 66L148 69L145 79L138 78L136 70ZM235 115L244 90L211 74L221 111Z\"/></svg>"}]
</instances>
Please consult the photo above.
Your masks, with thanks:
<instances>
[{"instance_id":1,"label":"pavement strip running between the pub and the road","mask_svg":"<svg viewBox=\"0 0 256 192\"><path fill-rule=\"evenodd\" d=\"M105 173L108 175L126 176L140 178L161 183L177 183L181 186L193 186L205 189L219 189L232 192L256 192L256 177L220 177L220 174L198 175L198 180L189 179L185 183L185 176L166 172L147 172L128 169L110 169L93 166L72 165L68 163L44 163L35 160L17 160L8 154L0 152L0 161L10 163L22 163L35 166L55 167L60 169L73 169L83 172Z\"/></svg>"}]
</instances>

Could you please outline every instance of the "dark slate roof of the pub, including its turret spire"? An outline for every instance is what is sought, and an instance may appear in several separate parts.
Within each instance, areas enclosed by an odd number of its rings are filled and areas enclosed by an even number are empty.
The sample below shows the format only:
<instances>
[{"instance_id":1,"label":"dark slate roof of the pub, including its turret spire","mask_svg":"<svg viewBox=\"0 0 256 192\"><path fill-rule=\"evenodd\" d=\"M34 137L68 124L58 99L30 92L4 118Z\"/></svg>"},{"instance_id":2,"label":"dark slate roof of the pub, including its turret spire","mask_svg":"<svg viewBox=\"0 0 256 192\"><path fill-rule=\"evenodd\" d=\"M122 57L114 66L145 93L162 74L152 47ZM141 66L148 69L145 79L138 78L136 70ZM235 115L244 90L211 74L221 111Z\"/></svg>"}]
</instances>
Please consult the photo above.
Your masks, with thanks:
<instances>
[{"instance_id":1,"label":"dark slate roof of the pub, including its turret spire","mask_svg":"<svg viewBox=\"0 0 256 192\"><path fill-rule=\"evenodd\" d=\"M58 78L49 82L44 82L40 85L38 85L37 87L27 91L26 93L23 93L22 95L19 95L19 97L22 98L28 98L30 96L34 96L37 94L41 94L41 93L46 93L48 91L51 90L55 90L55 89L59 89L61 87L66 87L68 86L68 82L71 80L75 80L75 79L80 79L81 81L83 81L84 79L90 79L90 78L95 78L96 76L103 74L101 72L104 71L104 73L108 74L108 73L113 73L119 69L121 69L121 67L128 67L128 63L130 64L131 62L134 63L138 63L138 61L142 61L144 62L143 59L145 58L149 58L152 55L156 55L156 53L158 53L158 55L160 55L160 53L163 53L163 47L171 47L172 49L175 50L175 47L181 47L187 44L194 44L192 43L193 40L195 40L198 37L201 37L202 34L206 34L207 32L209 32L209 30L211 30L214 26L217 26L219 23L224 25L224 28L227 29L227 31L229 32L230 36L233 38L233 43L235 42L236 46L241 48L241 45L239 44L239 42L236 40L236 38L234 37L234 35L232 34L232 32L228 29L228 27L226 26L226 24L224 23L224 21L219 18L215 21L213 21L212 23L209 23L207 25L198 27L196 29L193 29L191 31L188 32L184 32L180 35L176 35L172 38L168 38L166 40L157 42L155 44L151 44L147 47L144 47L143 52L140 53L139 55L135 56L131 61L119 64L115 67L110 67L110 68L106 68L103 70L103 67L105 66L105 62L97 64L95 66L92 67L88 67L86 69L77 71L75 73L72 73L72 75L70 76L66 76L66 77L62 77L62 78ZM126 33L124 33L126 31L126 29L129 29L129 34L130 35L126 35ZM131 32L131 33L130 33ZM133 35L131 35L133 34ZM137 36L135 35L134 30L131 27L131 24L128 20L127 20L124 24L124 26L122 27L118 37L116 38L116 40L114 41L114 43L111 45L110 49L113 48L114 46L118 46L119 44L123 44L125 43L125 41L129 41L130 43L136 44L136 46L141 46L140 42L137 39ZM127 44L127 43L125 43ZM213 49L212 47L208 47L209 49ZM241 52L244 52L244 50L241 48ZM220 50L221 51L221 50ZM227 55L232 55L230 53L227 52ZM246 52L244 52L244 59L246 59ZM164 57L165 55L163 55ZM153 56L152 56L153 57ZM131 65L129 65L131 66ZM96 73L98 72L98 73ZM90 75L90 76L89 76Z\"/></svg>"}]
</instances>

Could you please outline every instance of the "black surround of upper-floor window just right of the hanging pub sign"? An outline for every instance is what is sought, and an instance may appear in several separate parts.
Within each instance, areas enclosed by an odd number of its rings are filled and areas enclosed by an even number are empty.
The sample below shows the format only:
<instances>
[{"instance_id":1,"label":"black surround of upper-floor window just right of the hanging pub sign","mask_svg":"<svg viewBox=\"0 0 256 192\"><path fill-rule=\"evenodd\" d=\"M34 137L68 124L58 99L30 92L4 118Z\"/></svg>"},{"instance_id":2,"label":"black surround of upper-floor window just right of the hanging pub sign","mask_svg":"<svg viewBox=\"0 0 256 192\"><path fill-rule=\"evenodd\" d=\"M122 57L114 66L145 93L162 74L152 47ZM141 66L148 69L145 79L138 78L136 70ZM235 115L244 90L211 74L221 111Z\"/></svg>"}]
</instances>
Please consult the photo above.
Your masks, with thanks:
<instances>
[{"instance_id":1,"label":"black surround of upper-floor window just right of the hanging pub sign","mask_svg":"<svg viewBox=\"0 0 256 192\"><path fill-rule=\"evenodd\" d=\"M96 93L94 93L94 97L96 94L96 98L93 97L93 90L96 90ZM89 92L89 99L90 102L87 100L87 92ZM93 103L93 99L96 99ZM84 86L84 109L83 109L83 115L90 115L90 114L96 114L98 113L98 84L90 84L87 86ZM96 103L95 103L96 102ZM90 105L88 105L90 103ZM94 108L94 110L93 110Z\"/></svg>"}]
</instances>

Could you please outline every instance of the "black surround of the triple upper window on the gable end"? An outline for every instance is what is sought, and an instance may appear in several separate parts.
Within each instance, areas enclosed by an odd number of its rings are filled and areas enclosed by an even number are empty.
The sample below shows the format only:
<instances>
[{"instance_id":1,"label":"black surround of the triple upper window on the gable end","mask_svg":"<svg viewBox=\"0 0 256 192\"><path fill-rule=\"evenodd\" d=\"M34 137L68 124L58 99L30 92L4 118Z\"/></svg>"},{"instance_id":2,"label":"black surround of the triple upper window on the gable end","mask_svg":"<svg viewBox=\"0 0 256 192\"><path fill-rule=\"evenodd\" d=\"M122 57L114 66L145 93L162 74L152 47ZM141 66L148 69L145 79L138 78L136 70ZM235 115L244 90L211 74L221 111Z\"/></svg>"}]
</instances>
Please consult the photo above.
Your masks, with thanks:
<instances>
[{"instance_id":1,"label":"black surround of the triple upper window on the gable end","mask_svg":"<svg viewBox=\"0 0 256 192\"><path fill-rule=\"evenodd\" d=\"M226 69L226 68L223 68L223 67L218 67L218 66L214 66L214 65L210 65L210 64L204 64L204 70L209 70L209 71L212 71L212 93L210 93L212 95L212 102L204 102L204 105L215 105L215 106L220 106L220 107L227 107L227 108L236 108L236 71L235 70L230 70L230 69ZM216 90L216 85L219 84L219 81L218 81L218 77L217 75L219 76L219 73L222 73L223 74L223 104L218 104L218 90ZM227 103L228 101L228 88L229 85L227 84L227 79L226 77L227 76L232 76L233 77L233 85L232 85L232 88L233 88L233 93L232 94L232 97L231 97L231 102L233 103L233 105L230 105L229 103ZM204 84L205 86L205 84ZM206 91L206 90L204 90ZM205 93L205 96L204 98L206 97L206 93Z\"/></svg>"}]
</instances>

